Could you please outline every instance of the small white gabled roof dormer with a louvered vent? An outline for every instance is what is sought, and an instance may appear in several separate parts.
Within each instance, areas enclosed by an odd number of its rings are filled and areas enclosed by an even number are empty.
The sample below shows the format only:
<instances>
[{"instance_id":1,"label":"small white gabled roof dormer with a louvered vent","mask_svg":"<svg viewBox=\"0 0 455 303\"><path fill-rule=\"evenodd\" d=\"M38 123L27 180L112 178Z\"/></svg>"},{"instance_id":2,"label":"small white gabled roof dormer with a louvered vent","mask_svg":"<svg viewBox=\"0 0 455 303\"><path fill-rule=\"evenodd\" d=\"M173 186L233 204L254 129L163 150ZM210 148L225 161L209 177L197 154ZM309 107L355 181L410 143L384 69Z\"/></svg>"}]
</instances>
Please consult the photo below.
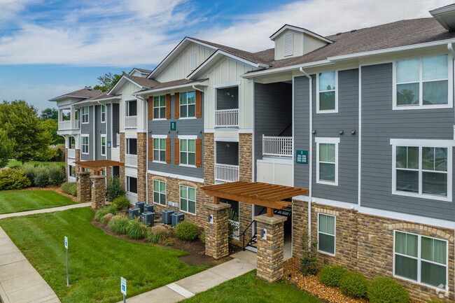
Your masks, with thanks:
<instances>
[{"instance_id":1,"label":"small white gabled roof dormer with a louvered vent","mask_svg":"<svg viewBox=\"0 0 455 303\"><path fill-rule=\"evenodd\" d=\"M284 24L270 40L275 42L275 60L300 57L333 41L302 27Z\"/></svg>"}]
</instances>

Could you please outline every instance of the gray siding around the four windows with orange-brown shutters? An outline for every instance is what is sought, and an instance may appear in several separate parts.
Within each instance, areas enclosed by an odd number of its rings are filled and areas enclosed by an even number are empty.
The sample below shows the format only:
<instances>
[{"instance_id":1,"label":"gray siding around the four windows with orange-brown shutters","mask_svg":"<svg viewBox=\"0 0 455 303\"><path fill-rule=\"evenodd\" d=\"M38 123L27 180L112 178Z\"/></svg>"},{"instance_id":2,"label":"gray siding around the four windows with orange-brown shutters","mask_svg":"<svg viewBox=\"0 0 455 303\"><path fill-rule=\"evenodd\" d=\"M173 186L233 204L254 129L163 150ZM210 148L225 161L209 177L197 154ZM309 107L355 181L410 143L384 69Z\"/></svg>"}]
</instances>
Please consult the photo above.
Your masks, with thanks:
<instances>
[{"instance_id":1,"label":"gray siding around the four windows with orange-brown shutters","mask_svg":"<svg viewBox=\"0 0 455 303\"><path fill-rule=\"evenodd\" d=\"M202 94L204 100L204 94ZM148 106L153 106L149 103ZM202 117L204 117L204 102L202 102ZM176 122L176 130L171 131L171 122ZM160 171L167 174L178 174L195 178L204 178L204 119L175 119L174 114L174 94L171 95L171 119L154 121L148 120L148 137L152 135L167 135L171 139L171 163L157 163L148 161L148 169L152 171ZM169 133L168 133L169 132ZM177 133L178 132L178 133ZM202 167L185 167L175 164L174 159L174 139L180 136L196 136L197 139L202 139ZM149 146L153 149L153 146Z\"/></svg>"}]
</instances>

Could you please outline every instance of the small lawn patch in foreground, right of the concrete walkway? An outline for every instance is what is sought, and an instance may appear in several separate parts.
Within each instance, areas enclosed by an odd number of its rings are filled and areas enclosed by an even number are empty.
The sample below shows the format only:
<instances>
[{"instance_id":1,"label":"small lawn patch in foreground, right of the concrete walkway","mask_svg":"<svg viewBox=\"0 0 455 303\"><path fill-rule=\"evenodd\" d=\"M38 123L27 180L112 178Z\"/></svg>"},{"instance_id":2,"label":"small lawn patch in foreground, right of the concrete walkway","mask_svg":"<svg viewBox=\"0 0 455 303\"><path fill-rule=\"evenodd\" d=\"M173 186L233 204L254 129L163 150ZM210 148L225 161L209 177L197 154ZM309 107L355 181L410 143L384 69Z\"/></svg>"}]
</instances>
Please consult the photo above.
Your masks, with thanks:
<instances>
[{"instance_id":1,"label":"small lawn patch in foreground, right of the concrete walkway","mask_svg":"<svg viewBox=\"0 0 455 303\"><path fill-rule=\"evenodd\" d=\"M253 270L253 272L248 272L182 302L321 303L315 297L298 290L286 281L270 284L256 278L255 274L256 271Z\"/></svg>"}]
</instances>

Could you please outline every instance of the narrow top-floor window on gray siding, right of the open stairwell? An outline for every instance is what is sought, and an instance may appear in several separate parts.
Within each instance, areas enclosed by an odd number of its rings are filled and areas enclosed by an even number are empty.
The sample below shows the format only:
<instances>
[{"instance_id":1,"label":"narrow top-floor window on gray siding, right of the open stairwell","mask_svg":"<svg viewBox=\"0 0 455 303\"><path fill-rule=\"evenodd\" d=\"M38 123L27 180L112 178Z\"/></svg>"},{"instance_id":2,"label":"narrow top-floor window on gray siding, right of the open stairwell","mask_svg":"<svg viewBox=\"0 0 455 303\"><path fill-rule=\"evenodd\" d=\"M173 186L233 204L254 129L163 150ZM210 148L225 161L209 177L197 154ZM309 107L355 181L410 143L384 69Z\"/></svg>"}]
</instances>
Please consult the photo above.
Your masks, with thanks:
<instances>
[{"instance_id":1,"label":"narrow top-floor window on gray siding, right of the open stairwell","mask_svg":"<svg viewBox=\"0 0 455 303\"><path fill-rule=\"evenodd\" d=\"M316 95L316 113L338 113L337 82L337 71L318 73L316 79L316 85L318 87L318 94Z\"/></svg>"}]
</instances>

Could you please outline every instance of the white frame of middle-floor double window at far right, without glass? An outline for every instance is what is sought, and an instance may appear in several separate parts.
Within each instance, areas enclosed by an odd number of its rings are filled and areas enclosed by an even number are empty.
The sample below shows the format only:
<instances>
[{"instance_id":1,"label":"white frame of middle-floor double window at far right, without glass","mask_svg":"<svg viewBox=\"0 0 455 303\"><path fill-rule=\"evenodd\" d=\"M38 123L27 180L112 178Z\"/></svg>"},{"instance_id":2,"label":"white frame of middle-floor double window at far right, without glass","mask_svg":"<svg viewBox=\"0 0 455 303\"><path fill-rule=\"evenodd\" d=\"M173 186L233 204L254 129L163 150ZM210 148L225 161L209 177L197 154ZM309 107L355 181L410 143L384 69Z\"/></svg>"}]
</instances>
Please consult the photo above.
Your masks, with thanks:
<instances>
[{"instance_id":1,"label":"white frame of middle-floor double window at far right, without glass","mask_svg":"<svg viewBox=\"0 0 455 303\"><path fill-rule=\"evenodd\" d=\"M431 139L391 139L392 146L392 195L400 195L405 197L416 197L423 199L432 199L439 201L451 202L452 200L452 146L453 140L431 140ZM416 192L403 192L396 190L396 147L408 146L419 148L419 193ZM435 147L447 148L447 197L440 197L436 195L429 195L422 193L422 148Z\"/></svg>"}]
</instances>

